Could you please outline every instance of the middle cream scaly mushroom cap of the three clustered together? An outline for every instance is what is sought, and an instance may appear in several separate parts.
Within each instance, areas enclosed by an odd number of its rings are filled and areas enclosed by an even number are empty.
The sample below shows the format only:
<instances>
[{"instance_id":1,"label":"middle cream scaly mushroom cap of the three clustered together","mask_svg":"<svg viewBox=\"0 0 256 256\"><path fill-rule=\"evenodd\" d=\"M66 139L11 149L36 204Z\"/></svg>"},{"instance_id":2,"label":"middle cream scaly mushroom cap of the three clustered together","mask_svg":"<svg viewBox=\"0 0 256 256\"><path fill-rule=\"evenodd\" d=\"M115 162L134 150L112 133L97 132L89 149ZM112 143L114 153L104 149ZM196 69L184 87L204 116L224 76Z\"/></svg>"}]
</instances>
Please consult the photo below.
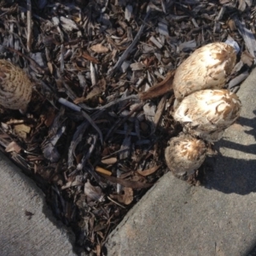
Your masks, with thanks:
<instances>
[{"instance_id":1,"label":"middle cream scaly mushroom cap of the three clustered together","mask_svg":"<svg viewBox=\"0 0 256 256\"><path fill-rule=\"evenodd\" d=\"M173 118L183 125L184 132L216 142L240 111L241 102L230 90L199 90L183 99Z\"/></svg>"}]
</instances>

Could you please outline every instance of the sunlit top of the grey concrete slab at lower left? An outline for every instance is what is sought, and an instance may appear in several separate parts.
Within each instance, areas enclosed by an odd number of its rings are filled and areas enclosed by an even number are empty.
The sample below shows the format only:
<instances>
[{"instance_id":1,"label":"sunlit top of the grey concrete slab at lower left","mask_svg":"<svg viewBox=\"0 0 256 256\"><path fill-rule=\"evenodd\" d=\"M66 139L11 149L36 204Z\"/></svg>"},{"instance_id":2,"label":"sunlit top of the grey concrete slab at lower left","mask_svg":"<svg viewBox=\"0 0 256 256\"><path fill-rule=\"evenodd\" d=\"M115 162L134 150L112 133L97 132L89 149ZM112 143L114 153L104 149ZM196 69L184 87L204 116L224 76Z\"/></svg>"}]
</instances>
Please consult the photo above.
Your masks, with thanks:
<instances>
[{"instance_id":1,"label":"sunlit top of the grey concrete slab at lower left","mask_svg":"<svg viewBox=\"0 0 256 256\"><path fill-rule=\"evenodd\" d=\"M29 219L25 211L32 212ZM44 194L0 154L0 255L72 256L73 234L56 222Z\"/></svg>"}]
</instances>

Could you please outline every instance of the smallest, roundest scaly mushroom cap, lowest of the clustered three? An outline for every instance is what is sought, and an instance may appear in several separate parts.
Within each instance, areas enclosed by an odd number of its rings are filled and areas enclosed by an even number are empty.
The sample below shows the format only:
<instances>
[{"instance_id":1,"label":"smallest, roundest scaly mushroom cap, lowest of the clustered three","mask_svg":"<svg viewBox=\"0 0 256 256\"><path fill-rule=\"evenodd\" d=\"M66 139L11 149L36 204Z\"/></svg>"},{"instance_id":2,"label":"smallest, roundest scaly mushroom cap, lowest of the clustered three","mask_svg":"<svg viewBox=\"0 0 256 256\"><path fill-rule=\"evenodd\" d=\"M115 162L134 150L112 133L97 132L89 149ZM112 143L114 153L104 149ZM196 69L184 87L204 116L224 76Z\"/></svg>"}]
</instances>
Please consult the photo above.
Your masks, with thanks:
<instances>
[{"instance_id":1,"label":"smallest, roundest scaly mushroom cap, lowest of the clustered three","mask_svg":"<svg viewBox=\"0 0 256 256\"><path fill-rule=\"evenodd\" d=\"M177 177L193 174L206 156L206 144L189 134L172 137L165 151L166 165Z\"/></svg>"}]
</instances>

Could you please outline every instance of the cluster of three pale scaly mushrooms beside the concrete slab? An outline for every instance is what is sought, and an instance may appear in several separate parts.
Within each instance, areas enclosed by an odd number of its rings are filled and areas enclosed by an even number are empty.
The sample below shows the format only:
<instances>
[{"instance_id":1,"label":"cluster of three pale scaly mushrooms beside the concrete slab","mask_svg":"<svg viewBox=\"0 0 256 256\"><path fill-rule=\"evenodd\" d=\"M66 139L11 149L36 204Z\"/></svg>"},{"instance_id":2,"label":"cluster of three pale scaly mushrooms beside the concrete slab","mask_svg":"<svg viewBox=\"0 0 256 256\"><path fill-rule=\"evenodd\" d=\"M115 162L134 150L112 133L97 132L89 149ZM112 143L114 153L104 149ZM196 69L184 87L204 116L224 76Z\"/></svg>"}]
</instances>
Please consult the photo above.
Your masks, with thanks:
<instances>
[{"instance_id":1,"label":"cluster of three pale scaly mushrooms beside the concrete slab","mask_svg":"<svg viewBox=\"0 0 256 256\"><path fill-rule=\"evenodd\" d=\"M225 43L207 44L177 68L173 79L173 118L183 134L172 137L166 165L177 177L188 177L207 156L207 143L218 141L239 117L241 102L224 85L236 65L236 50Z\"/></svg>"}]
</instances>

